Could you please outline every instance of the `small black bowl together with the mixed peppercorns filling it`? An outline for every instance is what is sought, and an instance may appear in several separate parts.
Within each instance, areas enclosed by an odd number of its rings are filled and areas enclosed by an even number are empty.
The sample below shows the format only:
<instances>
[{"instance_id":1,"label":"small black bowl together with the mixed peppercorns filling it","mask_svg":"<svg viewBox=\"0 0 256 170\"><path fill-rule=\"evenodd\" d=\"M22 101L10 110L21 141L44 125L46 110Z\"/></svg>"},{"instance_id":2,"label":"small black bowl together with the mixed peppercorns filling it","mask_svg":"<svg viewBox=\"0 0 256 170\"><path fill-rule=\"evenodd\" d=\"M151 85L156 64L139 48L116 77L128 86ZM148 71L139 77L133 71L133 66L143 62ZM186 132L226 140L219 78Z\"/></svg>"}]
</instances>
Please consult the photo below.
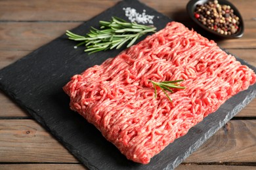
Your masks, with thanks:
<instances>
[{"instance_id":1,"label":"small black bowl together with the mixed peppercorns filling it","mask_svg":"<svg viewBox=\"0 0 256 170\"><path fill-rule=\"evenodd\" d=\"M240 12L226 0L190 0L186 9L196 24L218 37L235 39L244 34Z\"/></svg>"}]
</instances>

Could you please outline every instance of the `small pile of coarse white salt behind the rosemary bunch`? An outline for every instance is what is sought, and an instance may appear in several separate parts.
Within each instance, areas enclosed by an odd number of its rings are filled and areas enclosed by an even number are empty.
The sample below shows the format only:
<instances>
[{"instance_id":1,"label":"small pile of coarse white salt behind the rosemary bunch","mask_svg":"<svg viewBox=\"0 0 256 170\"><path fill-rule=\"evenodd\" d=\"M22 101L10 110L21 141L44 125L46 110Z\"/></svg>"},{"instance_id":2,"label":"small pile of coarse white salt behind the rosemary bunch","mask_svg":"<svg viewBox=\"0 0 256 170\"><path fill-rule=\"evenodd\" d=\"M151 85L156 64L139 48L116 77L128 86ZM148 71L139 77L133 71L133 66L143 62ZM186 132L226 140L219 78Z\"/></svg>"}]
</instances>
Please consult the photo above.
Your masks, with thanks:
<instances>
[{"instance_id":1,"label":"small pile of coarse white salt behind the rosemary bunch","mask_svg":"<svg viewBox=\"0 0 256 170\"><path fill-rule=\"evenodd\" d=\"M127 16L131 22L153 24L154 16L147 15L146 10L143 10L142 14L137 12L136 9L132 9L131 7L123 8L123 10L125 10L125 16Z\"/></svg>"}]
</instances>

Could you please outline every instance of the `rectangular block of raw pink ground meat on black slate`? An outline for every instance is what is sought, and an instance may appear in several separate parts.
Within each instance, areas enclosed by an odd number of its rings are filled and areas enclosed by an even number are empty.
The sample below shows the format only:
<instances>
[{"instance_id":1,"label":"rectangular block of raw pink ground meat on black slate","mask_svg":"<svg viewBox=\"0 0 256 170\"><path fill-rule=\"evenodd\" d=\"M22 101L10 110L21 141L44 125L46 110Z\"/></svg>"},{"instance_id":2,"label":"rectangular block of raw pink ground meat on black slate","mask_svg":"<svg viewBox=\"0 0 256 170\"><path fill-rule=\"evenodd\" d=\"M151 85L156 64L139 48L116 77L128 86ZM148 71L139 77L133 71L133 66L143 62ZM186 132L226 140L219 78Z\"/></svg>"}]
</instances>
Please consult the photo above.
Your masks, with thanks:
<instances>
[{"instance_id":1,"label":"rectangular block of raw pink ground meat on black slate","mask_svg":"<svg viewBox=\"0 0 256 170\"><path fill-rule=\"evenodd\" d=\"M183 79L169 93L148 80ZM74 75L64 86L70 107L94 124L129 160L148 163L165 146L215 112L256 75L213 41L178 22Z\"/></svg>"}]
</instances>

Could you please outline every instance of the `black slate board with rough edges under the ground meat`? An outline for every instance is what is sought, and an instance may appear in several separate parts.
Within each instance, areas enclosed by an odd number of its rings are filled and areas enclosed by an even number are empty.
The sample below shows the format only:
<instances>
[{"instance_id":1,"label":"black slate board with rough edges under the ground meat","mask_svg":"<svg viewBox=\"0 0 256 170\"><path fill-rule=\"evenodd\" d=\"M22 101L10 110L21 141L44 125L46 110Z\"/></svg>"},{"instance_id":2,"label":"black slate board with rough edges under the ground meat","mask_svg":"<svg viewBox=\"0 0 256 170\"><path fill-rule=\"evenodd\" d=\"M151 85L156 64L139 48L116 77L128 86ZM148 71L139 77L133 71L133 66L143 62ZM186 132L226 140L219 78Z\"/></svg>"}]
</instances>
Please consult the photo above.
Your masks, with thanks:
<instances>
[{"instance_id":1,"label":"black slate board with rough edges under the ground meat","mask_svg":"<svg viewBox=\"0 0 256 170\"><path fill-rule=\"evenodd\" d=\"M91 26L97 27L99 20L110 20L111 16L125 18L124 7L132 7L137 9L137 12L146 10L146 14L154 15L154 25L158 30L171 21L139 1L126 0L72 31L85 33ZM68 41L66 36L62 35L5 67L0 71L0 88L89 169L173 169L256 95L256 84L238 93L226 101L217 112L192 127L187 135L169 144L160 154L154 156L150 163L141 165L127 160L94 126L79 114L72 112L69 109L69 98L62 91L62 86L72 75L116 56L123 49L87 56L82 48L74 49L74 45L74 42ZM242 59L238 60L248 65ZM248 66L256 71L255 67Z\"/></svg>"}]
</instances>

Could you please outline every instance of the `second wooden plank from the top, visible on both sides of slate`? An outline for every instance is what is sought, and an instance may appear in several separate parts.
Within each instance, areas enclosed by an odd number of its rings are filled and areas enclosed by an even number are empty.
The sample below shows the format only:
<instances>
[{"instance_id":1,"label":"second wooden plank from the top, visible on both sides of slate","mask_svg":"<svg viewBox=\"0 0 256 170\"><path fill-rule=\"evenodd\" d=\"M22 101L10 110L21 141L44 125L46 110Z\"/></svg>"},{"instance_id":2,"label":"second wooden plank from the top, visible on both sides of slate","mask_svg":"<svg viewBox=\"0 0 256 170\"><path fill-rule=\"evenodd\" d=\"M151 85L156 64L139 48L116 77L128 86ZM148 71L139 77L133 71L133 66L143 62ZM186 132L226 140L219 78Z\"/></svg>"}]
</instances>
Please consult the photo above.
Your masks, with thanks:
<instances>
[{"instance_id":1,"label":"second wooden plank from the top, visible on both sides of slate","mask_svg":"<svg viewBox=\"0 0 256 170\"><path fill-rule=\"evenodd\" d=\"M0 22L0 51L35 50L64 34L66 29L72 29L79 24L81 23ZM247 21L245 25L245 34L242 38L217 41L217 43L226 49L256 49L256 22Z\"/></svg>"}]
</instances>

